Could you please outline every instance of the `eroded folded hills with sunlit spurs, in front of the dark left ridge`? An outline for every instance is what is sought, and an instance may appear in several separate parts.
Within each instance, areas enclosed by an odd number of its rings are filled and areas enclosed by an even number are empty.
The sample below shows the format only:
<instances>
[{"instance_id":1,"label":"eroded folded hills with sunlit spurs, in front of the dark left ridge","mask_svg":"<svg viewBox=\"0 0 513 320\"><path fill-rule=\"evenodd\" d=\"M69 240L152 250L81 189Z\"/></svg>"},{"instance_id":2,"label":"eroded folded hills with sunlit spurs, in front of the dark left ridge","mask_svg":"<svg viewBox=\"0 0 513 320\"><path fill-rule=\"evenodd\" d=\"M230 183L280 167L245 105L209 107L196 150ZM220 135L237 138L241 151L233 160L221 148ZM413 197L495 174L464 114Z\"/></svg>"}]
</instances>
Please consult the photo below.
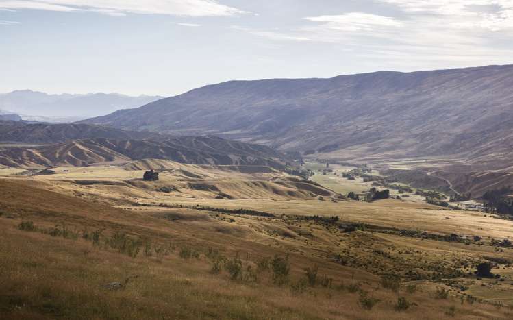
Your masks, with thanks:
<instances>
[{"instance_id":1,"label":"eroded folded hills with sunlit spurs, in front of the dark left ridge","mask_svg":"<svg viewBox=\"0 0 513 320\"><path fill-rule=\"evenodd\" d=\"M184 137L163 141L94 138L36 147L0 147L0 164L8 167L87 166L146 158L189 164L284 167L278 160L281 154L271 148L221 138Z\"/></svg>"}]
</instances>

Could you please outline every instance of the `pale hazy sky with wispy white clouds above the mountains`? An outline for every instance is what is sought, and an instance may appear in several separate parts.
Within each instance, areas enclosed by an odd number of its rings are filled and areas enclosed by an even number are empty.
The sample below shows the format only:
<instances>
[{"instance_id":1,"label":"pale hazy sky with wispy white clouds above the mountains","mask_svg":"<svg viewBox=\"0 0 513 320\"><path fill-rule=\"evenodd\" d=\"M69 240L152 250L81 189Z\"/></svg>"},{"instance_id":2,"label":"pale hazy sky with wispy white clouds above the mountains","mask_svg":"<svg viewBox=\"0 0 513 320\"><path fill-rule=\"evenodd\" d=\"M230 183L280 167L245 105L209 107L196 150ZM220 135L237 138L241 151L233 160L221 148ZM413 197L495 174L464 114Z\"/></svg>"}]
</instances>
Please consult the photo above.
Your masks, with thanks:
<instances>
[{"instance_id":1,"label":"pale hazy sky with wispy white clouds above the mountains","mask_svg":"<svg viewBox=\"0 0 513 320\"><path fill-rule=\"evenodd\" d=\"M513 0L0 0L0 93L513 63Z\"/></svg>"}]
</instances>

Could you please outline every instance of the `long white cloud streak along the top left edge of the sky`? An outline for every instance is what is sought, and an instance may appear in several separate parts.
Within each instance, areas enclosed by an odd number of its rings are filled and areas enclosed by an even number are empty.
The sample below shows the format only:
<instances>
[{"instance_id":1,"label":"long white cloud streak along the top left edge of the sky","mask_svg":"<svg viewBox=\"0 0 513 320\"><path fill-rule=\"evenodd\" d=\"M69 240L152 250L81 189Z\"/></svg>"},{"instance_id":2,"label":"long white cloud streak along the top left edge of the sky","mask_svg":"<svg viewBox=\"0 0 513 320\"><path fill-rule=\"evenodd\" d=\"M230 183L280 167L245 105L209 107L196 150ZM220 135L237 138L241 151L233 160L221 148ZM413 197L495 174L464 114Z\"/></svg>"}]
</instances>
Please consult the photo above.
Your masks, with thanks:
<instances>
[{"instance_id":1,"label":"long white cloud streak along the top left edge of the sky","mask_svg":"<svg viewBox=\"0 0 513 320\"><path fill-rule=\"evenodd\" d=\"M233 16L245 13L216 0L0 0L0 8L62 12L87 10L118 16L127 13L175 16Z\"/></svg>"}]
</instances>

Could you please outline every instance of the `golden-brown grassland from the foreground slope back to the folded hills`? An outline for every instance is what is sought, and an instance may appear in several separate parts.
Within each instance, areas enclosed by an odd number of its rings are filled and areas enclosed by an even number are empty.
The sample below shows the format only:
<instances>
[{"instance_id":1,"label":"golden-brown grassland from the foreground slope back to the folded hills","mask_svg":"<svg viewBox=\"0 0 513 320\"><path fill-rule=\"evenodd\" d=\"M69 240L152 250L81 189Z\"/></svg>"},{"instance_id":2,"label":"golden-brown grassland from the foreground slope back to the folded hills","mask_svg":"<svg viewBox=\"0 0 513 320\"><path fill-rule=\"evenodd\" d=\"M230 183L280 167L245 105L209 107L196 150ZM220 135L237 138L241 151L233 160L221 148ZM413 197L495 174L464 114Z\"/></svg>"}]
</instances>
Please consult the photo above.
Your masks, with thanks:
<instances>
[{"instance_id":1,"label":"golden-brown grassland from the foreground slope back to the folded hills","mask_svg":"<svg viewBox=\"0 0 513 320\"><path fill-rule=\"evenodd\" d=\"M140 179L149 167L162 170L158 182ZM513 240L512 221L336 199L336 183L265 167L52 170L0 169L2 319L513 318L513 249L491 245ZM441 240L451 234L481 240ZM288 275L276 278L275 257ZM501 280L473 275L490 260ZM314 266L310 284L304 269ZM386 275L399 288L385 288Z\"/></svg>"}]
</instances>

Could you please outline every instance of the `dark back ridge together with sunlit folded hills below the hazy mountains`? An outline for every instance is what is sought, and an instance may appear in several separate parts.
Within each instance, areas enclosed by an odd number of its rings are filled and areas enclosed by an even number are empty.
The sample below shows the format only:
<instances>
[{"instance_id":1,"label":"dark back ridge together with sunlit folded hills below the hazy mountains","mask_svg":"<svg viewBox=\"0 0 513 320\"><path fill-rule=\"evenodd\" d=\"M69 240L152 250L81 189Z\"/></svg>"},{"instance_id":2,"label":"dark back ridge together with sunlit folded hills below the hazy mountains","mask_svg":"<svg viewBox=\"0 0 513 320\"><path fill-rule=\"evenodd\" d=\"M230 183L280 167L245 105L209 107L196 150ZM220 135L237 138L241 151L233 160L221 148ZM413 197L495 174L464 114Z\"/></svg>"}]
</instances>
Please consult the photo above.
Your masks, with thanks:
<instances>
[{"instance_id":1,"label":"dark back ridge together with sunlit folded hills below the hazy mountains","mask_svg":"<svg viewBox=\"0 0 513 320\"><path fill-rule=\"evenodd\" d=\"M125 132L98 125L0 121L0 141L4 142L0 145L0 164L9 167L86 166L149 158L188 164L285 167L284 155L262 145L215 137Z\"/></svg>"}]
</instances>

